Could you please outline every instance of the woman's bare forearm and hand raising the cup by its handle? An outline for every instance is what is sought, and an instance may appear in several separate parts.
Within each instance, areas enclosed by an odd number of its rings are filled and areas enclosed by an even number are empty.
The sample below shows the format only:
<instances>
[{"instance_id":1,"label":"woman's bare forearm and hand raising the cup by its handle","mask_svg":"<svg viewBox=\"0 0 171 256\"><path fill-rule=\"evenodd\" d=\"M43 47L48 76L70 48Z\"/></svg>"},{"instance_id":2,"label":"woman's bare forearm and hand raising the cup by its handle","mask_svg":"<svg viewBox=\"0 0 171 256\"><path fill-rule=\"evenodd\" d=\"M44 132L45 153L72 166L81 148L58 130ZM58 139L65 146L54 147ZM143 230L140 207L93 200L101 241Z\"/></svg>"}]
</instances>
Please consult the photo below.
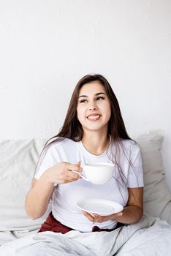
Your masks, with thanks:
<instances>
[{"instance_id":1,"label":"woman's bare forearm and hand raising the cup by its handle","mask_svg":"<svg viewBox=\"0 0 171 256\"><path fill-rule=\"evenodd\" d=\"M37 219L45 214L50 197L53 195L54 183L65 184L80 178L79 175L71 170L81 172L82 168L79 164L71 165L61 162L47 169L39 180L34 179L25 201L26 213L31 219Z\"/></svg>"}]
</instances>

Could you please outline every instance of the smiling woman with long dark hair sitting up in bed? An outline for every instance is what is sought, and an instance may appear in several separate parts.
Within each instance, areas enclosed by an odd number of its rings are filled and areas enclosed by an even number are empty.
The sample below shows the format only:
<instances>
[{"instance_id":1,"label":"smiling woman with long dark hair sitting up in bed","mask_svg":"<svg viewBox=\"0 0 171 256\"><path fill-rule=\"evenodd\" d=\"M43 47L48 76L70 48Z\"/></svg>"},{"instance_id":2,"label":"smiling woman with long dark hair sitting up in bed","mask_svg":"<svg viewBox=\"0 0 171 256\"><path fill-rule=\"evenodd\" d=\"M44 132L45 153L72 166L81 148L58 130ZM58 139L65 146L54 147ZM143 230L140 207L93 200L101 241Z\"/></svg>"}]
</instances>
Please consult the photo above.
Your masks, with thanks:
<instances>
[{"instance_id":1,"label":"smiling woman with long dark hair sitting up in bed","mask_svg":"<svg viewBox=\"0 0 171 256\"><path fill-rule=\"evenodd\" d=\"M95 185L72 172L86 162L113 163L113 178ZM56 184L56 186L54 186ZM52 213L41 230L66 233L113 230L142 217L143 176L140 148L129 138L113 89L102 75L86 75L77 83L61 131L42 152L26 197L26 212L41 217L53 198ZM109 216L77 208L86 198L113 200L123 211Z\"/></svg>"}]
</instances>

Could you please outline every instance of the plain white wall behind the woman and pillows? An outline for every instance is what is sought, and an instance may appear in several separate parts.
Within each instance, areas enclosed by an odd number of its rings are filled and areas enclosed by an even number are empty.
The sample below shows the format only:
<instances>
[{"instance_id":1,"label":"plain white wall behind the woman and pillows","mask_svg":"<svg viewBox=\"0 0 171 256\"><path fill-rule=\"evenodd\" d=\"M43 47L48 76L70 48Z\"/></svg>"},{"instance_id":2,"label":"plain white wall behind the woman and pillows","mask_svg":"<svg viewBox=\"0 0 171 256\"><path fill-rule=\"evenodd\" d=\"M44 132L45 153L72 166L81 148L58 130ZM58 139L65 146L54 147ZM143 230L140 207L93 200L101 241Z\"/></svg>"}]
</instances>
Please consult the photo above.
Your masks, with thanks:
<instances>
[{"instance_id":1,"label":"plain white wall behind the woman and pillows","mask_svg":"<svg viewBox=\"0 0 171 256\"><path fill-rule=\"evenodd\" d=\"M171 1L0 0L0 138L48 138L89 72L113 86L129 135L164 131L171 190Z\"/></svg>"}]
</instances>

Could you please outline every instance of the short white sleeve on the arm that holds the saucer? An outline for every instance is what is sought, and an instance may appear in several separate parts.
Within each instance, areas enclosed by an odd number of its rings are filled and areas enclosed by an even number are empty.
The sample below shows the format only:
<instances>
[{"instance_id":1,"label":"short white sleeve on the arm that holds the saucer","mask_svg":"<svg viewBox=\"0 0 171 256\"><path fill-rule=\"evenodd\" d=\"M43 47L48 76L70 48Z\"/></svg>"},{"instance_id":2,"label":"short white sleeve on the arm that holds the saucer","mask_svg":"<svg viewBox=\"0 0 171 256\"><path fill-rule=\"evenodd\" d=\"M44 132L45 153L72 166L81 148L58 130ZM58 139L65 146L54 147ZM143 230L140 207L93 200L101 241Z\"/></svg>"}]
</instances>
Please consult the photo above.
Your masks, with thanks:
<instances>
[{"instance_id":1,"label":"short white sleeve on the arm that holds the saucer","mask_svg":"<svg viewBox=\"0 0 171 256\"><path fill-rule=\"evenodd\" d=\"M143 170L142 170L142 157L140 146L134 144L130 154L130 164L128 173L127 187L144 187Z\"/></svg>"}]
</instances>

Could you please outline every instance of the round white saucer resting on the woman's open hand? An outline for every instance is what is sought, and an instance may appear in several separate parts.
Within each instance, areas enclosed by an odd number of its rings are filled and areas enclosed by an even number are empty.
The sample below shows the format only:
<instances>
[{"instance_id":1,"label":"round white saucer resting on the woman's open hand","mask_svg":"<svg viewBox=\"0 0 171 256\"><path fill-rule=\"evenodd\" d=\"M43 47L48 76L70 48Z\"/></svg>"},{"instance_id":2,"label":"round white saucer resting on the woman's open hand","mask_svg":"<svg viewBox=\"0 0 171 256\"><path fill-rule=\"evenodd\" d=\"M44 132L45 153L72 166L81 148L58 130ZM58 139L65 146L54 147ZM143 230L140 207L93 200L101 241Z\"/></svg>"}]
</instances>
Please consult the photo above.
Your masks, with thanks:
<instances>
[{"instance_id":1,"label":"round white saucer resting on the woman's open hand","mask_svg":"<svg viewBox=\"0 0 171 256\"><path fill-rule=\"evenodd\" d=\"M77 202L77 207L88 213L99 214L101 216L116 214L123 210L123 206L121 206L120 203L97 198L81 200L80 202Z\"/></svg>"}]
</instances>

